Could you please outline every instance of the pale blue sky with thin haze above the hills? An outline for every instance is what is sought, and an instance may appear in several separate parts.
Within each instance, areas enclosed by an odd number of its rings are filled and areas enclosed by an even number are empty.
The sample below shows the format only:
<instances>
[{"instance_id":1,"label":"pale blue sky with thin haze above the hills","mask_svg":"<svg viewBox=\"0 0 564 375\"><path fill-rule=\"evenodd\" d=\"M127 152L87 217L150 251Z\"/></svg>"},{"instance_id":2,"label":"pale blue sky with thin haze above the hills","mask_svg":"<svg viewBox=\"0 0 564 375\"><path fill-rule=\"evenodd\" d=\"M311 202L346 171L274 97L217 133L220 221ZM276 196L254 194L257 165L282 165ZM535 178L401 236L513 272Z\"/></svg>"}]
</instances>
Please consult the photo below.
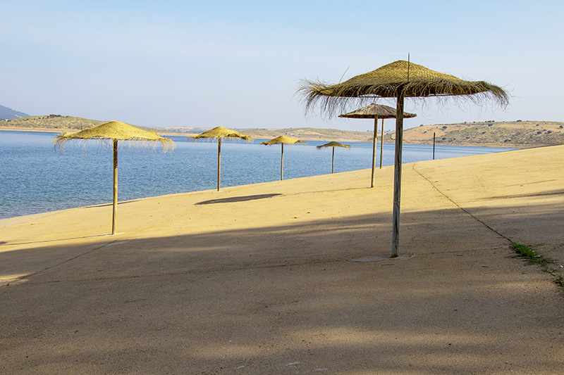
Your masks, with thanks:
<instances>
[{"instance_id":1,"label":"pale blue sky with thin haze above the hills","mask_svg":"<svg viewBox=\"0 0 564 375\"><path fill-rule=\"evenodd\" d=\"M505 110L407 101L405 127L562 121L563 18L561 0L0 0L0 105L152 127L368 130L305 115L300 80L337 83L410 53L512 97Z\"/></svg>"}]
</instances>

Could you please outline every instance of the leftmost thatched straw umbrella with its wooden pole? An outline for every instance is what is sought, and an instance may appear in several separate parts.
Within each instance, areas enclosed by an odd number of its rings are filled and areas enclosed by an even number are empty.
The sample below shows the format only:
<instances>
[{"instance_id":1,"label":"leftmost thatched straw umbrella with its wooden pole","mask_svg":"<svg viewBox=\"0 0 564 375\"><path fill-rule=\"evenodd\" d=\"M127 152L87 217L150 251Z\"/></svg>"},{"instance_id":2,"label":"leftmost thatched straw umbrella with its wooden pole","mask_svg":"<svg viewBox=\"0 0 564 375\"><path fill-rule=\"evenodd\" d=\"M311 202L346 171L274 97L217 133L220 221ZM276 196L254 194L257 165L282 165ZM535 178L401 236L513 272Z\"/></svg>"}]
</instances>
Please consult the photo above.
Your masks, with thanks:
<instances>
[{"instance_id":1,"label":"leftmost thatched straw umbrella with its wooden pole","mask_svg":"<svg viewBox=\"0 0 564 375\"><path fill-rule=\"evenodd\" d=\"M111 234L116 234L116 214L118 205L118 141L160 142L163 151L174 148L172 139L159 136L155 132L139 129L120 121L110 121L104 124L80 130L75 133L64 133L56 136L55 146L63 147L66 142L80 139L111 139L114 144L114 204L111 218Z\"/></svg>"}]
</instances>

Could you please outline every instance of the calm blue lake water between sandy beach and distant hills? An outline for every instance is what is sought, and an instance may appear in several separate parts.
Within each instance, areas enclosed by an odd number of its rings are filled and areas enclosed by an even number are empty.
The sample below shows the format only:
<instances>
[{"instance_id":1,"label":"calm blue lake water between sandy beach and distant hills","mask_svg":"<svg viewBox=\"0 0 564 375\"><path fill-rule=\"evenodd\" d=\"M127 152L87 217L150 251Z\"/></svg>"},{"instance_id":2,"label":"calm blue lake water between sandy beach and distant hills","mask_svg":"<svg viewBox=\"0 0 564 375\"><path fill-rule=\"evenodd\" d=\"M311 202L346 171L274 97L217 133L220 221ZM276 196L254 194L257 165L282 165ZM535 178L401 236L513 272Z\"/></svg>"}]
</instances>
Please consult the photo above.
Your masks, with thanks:
<instances>
[{"instance_id":1,"label":"calm blue lake water between sandy beach and distant hills","mask_svg":"<svg viewBox=\"0 0 564 375\"><path fill-rule=\"evenodd\" d=\"M85 205L110 203L113 160L110 144L69 143L55 151L56 134L0 131L0 219ZM216 189L217 144L171 136L172 152L128 147L119 142L118 199ZM280 179L281 146L264 140L221 142L221 187ZM284 147L284 179L331 173L331 148L326 141ZM372 144L350 142L336 148L335 172L370 168ZM378 155L380 146L378 145ZM507 151L510 148L436 146L435 158ZM384 144L383 165L393 165L393 144ZM404 145L403 163L433 158L433 146ZM378 163L378 161L376 161Z\"/></svg>"}]
</instances>

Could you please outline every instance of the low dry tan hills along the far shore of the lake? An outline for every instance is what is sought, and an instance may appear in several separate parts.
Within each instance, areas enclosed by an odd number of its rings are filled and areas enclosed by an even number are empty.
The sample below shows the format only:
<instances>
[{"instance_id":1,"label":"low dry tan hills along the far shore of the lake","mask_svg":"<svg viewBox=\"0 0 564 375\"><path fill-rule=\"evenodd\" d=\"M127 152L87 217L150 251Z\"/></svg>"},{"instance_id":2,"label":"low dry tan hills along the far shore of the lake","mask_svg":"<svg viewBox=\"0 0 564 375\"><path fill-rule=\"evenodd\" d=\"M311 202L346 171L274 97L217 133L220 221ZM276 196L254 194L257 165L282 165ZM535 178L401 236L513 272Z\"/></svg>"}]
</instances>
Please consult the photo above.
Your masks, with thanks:
<instances>
[{"instance_id":1,"label":"low dry tan hills along the far shore of the lake","mask_svg":"<svg viewBox=\"0 0 564 375\"><path fill-rule=\"evenodd\" d=\"M104 121L87 120L81 117L43 115L0 120L0 129L20 128L53 132L74 132L102 124ZM159 134L195 135L208 128L164 127L147 128ZM272 139L281 134L303 141L349 141L372 142L372 132L353 132L339 129L316 129L312 127L283 129L237 129L254 138ZM405 129L403 141L406 144L432 144L435 134L436 144L464 146L505 146L536 147L564 144L564 122L550 121L510 121L510 122L472 122L462 124L426 125ZM380 134L378 134L380 139ZM384 133L384 142L395 139L393 132Z\"/></svg>"}]
</instances>

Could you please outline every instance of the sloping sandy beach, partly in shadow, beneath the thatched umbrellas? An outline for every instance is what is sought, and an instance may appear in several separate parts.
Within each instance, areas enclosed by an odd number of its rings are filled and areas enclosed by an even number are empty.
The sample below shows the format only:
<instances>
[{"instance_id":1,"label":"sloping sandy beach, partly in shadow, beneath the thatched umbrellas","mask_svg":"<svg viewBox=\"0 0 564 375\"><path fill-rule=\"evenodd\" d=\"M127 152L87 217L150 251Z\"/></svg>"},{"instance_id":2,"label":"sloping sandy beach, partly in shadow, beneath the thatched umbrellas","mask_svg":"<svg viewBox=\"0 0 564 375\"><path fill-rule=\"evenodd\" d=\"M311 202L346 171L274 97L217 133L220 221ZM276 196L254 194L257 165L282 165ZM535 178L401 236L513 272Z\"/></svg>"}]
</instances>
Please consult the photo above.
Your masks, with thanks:
<instances>
[{"instance_id":1,"label":"sloping sandy beach, partly in shadow, beneath the thatched umbrellas","mask_svg":"<svg viewBox=\"0 0 564 375\"><path fill-rule=\"evenodd\" d=\"M393 167L0 220L0 374L563 374L563 166L403 165L395 259Z\"/></svg>"}]
</instances>

